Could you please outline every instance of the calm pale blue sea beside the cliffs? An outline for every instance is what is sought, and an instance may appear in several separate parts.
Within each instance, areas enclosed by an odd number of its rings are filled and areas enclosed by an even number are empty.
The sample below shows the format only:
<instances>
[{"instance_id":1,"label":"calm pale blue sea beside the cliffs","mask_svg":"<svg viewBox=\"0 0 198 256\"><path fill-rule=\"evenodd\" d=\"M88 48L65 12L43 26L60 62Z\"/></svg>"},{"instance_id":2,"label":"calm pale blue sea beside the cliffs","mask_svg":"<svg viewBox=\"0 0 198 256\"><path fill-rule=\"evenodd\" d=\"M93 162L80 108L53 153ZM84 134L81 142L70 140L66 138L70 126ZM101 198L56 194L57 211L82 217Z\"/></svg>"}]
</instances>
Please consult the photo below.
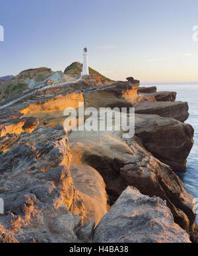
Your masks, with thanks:
<instances>
[{"instance_id":1,"label":"calm pale blue sea beside the cliffs","mask_svg":"<svg viewBox=\"0 0 198 256\"><path fill-rule=\"evenodd\" d=\"M192 194L198 206L198 82L197 84L142 84L141 86L156 86L158 92L177 92L176 101L187 101L189 105L189 123L195 129L195 144L187 159L187 170L178 173L183 181L183 186ZM198 214L197 214L198 224Z\"/></svg>"}]
</instances>

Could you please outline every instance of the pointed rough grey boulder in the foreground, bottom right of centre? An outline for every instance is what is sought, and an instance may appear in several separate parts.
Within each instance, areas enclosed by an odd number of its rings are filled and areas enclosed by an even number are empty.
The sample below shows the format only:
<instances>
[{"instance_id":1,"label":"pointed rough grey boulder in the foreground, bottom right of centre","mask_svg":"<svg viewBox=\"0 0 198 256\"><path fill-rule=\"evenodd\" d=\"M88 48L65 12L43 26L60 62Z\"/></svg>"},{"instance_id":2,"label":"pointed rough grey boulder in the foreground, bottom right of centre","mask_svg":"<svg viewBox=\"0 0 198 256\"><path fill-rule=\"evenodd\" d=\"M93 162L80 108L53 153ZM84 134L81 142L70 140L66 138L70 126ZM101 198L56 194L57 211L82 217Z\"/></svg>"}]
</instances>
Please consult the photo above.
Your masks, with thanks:
<instances>
[{"instance_id":1,"label":"pointed rough grey boulder in the foreground, bottom right of centre","mask_svg":"<svg viewBox=\"0 0 198 256\"><path fill-rule=\"evenodd\" d=\"M160 198L128 187L94 230L96 243L190 243Z\"/></svg>"}]
</instances>

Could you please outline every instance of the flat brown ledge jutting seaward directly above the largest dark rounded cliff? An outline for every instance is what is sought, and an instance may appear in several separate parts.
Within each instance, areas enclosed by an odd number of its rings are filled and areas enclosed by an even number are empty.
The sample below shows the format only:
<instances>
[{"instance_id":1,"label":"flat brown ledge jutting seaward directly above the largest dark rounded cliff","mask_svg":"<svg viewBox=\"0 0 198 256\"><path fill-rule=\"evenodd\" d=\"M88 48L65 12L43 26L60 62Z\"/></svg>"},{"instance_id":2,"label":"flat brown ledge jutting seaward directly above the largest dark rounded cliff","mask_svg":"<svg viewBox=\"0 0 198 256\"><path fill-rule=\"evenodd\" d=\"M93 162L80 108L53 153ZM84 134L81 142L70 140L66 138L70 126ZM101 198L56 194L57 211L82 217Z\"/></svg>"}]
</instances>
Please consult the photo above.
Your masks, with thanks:
<instances>
[{"instance_id":1,"label":"flat brown ledge jutting seaward directly above the largest dark rounded cliff","mask_svg":"<svg viewBox=\"0 0 198 256\"><path fill-rule=\"evenodd\" d=\"M164 101L150 102L142 101L135 106L135 113L160 115L161 117L173 117L184 122L189 117L189 107L187 102L182 101Z\"/></svg>"}]
</instances>

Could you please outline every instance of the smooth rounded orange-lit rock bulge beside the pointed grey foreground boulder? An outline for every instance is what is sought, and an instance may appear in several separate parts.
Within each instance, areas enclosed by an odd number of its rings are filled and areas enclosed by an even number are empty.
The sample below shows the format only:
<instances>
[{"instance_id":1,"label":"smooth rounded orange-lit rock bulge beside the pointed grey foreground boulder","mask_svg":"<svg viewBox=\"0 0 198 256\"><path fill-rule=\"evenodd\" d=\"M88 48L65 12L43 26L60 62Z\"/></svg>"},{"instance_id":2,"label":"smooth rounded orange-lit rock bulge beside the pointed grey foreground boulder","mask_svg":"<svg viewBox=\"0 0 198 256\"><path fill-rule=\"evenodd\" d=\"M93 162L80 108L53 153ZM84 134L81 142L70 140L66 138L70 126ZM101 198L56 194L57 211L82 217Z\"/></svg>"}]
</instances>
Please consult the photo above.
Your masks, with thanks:
<instances>
[{"instance_id":1,"label":"smooth rounded orange-lit rock bulge beside the pointed grey foreground boulder","mask_svg":"<svg viewBox=\"0 0 198 256\"><path fill-rule=\"evenodd\" d=\"M71 165L71 175L74 185L84 202L84 219L82 224L91 220L97 225L108 212L108 196L102 176L92 167L86 165Z\"/></svg>"}]
</instances>

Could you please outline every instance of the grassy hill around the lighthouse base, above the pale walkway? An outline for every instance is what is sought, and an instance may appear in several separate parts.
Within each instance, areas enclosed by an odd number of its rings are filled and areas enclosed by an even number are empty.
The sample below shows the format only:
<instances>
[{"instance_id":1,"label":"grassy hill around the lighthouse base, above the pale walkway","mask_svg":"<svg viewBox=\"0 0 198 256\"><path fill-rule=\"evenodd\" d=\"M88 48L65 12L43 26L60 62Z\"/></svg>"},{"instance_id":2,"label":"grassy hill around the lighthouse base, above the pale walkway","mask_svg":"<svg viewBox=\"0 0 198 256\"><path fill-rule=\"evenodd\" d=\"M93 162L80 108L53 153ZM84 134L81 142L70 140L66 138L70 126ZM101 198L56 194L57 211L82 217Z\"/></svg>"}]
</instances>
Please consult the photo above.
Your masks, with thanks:
<instances>
[{"instance_id":1,"label":"grassy hill around the lighthouse base, above the pale walkway","mask_svg":"<svg viewBox=\"0 0 198 256\"><path fill-rule=\"evenodd\" d=\"M73 62L65 69L65 72L53 72L51 68L31 68L20 72L17 76L8 76L3 83L0 83L0 103L1 101L11 101L17 97L29 94L34 90L59 86L61 84L73 84L81 75L82 64ZM9 79L10 78L10 79ZM83 76L81 82L87 86L100 86L112 84L112 80L102 76L96 70L90 68L90 75Z\"/></svg>"}]
</instances>

